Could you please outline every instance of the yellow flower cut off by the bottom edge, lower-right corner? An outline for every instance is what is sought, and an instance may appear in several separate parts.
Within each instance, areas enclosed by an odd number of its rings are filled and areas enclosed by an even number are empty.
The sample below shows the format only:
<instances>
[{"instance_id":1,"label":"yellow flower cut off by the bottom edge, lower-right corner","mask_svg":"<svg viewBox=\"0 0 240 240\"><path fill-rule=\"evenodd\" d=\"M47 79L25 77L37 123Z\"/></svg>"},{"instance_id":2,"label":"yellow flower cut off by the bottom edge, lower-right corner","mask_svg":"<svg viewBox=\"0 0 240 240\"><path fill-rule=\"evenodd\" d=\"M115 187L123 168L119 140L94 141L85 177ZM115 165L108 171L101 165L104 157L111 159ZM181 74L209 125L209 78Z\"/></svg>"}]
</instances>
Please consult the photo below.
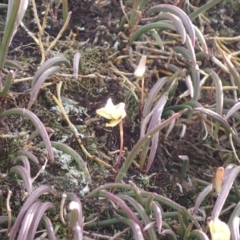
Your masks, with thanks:
<instances>
[{"instance_id":1,"label":"yellow flower cut off by the bottom edge, lower-right corner","mask_svg":"<svg viewBox=\"0 0 240 240\"><path fill-rule=\"evenodd\" d=\"M209 228L212 240L230 240L230 229L225 222L220 221L218 218L214 221L211 220Z\"/></svg>"}]
</instances>

